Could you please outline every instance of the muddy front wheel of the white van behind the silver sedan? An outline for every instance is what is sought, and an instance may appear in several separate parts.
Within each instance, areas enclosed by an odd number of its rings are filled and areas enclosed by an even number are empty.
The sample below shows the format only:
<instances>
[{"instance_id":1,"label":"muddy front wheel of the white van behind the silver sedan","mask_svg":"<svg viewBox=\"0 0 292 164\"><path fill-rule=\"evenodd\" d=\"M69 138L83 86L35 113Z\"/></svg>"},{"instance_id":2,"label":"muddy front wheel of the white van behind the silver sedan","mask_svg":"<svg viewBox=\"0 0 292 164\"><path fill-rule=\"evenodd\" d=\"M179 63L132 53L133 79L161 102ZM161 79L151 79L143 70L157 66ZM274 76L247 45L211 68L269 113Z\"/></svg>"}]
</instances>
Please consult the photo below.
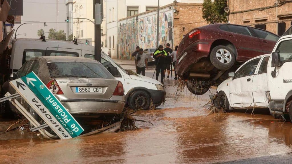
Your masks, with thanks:
<instances>
[{"instance_id":1,"label":"muddy front wheel of the white van behind the silver sedan","mask_svg":"<svg viewBox=\"0 0 292 164\"><path fill-rule=\"evenodd\" d=\"M143 109L147 110L150 107L151 97L143 90L135 91L131 94L129 106L133 110Z\"/></svg>"}]
</instances>

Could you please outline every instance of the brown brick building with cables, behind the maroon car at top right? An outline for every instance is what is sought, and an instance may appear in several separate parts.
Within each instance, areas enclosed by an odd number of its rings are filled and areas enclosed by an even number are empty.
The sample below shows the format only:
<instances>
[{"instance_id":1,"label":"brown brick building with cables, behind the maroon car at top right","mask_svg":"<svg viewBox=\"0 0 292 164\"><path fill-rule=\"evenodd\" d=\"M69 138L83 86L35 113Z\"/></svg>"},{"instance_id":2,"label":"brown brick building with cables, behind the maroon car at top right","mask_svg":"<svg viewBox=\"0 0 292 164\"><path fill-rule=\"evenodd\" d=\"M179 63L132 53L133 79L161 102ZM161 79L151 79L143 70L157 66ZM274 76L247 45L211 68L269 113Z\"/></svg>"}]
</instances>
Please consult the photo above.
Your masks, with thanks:
<instances>
[{"instance_id":1,"label":"brown brick building with cables, behind the maroon car at top right","mask_svg":"<svg viewBox=\"0 0 292 164\"><path fill-rule=\"evenodd\" d=\"M278 35L292 25L291 0L229 0L228 21L257 27Z\"/></svg>"}]
</instances>

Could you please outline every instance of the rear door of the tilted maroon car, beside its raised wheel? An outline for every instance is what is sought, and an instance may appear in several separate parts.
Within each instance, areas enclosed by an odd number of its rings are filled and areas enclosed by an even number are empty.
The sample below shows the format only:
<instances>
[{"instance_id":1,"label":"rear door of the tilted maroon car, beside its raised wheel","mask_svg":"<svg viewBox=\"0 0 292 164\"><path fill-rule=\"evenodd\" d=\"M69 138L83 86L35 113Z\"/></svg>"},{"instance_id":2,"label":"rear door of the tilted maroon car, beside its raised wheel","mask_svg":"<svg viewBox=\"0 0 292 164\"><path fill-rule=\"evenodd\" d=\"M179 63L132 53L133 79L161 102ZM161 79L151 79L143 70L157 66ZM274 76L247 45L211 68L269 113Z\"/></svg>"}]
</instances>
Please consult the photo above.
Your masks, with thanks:
<instances>
[{"instance_id":1,"label":"rear door of the tilted maroon car, beside its raised wheel","mask_svg":"<svg viewBox=\"0 0 292 164\"><path fill-rule=\"evenodd\" d=\"M237 25L227 25L227 27L230 32L226 37L237 47L238 60L247 61L258 55L263 55L262 50L255 47L260 42L259 38L253 36L248 27Z\"/></svg>"}]
</instances>

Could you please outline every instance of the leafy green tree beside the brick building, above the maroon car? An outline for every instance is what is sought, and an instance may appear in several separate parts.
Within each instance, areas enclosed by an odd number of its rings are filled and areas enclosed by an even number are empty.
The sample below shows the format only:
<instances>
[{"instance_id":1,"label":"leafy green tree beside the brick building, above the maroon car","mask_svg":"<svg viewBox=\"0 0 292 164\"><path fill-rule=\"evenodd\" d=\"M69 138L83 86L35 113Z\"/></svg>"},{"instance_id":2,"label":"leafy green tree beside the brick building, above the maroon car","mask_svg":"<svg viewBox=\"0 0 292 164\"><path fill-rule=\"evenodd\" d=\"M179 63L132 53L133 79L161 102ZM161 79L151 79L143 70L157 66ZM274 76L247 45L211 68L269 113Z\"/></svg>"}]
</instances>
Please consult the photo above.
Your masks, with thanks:
<instances>
[{"instance_id":1,"label":"leafy green tree beside the brick building, above the maroon car","mask_svg":"<svg viewBox=\"0 0 292 164\"><path fill-rule=\"evenodd\" d=\"M204 0L203 18L209 23L227 23L227 13L224 8L227 7L227 0Z\"/></svg>"}]
</instances>

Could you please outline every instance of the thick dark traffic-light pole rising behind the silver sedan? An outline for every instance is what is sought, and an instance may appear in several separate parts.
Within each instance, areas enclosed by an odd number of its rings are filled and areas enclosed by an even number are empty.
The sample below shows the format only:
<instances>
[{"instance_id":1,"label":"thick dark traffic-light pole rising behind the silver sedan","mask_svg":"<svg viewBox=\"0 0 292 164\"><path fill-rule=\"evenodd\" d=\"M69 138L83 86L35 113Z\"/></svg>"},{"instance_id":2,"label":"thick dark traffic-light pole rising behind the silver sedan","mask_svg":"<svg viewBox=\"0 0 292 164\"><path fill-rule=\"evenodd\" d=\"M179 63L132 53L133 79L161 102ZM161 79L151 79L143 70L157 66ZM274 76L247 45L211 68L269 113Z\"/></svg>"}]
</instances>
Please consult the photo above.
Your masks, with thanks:
<instances>
[{"instance_id":1,"label":"thick dark traffic-light pole rising behind the silver sedan","mask_svg":"<svg viewBox=\"0 0 292 164\"><path fill-rule=\"evenodd\" d=\"M100 3L103 0L93 0L93 18L94 24L94 59L101 62L101 38L100 38L100 24L103 18L103 6Z\"/></svg>"}]
</instances>

